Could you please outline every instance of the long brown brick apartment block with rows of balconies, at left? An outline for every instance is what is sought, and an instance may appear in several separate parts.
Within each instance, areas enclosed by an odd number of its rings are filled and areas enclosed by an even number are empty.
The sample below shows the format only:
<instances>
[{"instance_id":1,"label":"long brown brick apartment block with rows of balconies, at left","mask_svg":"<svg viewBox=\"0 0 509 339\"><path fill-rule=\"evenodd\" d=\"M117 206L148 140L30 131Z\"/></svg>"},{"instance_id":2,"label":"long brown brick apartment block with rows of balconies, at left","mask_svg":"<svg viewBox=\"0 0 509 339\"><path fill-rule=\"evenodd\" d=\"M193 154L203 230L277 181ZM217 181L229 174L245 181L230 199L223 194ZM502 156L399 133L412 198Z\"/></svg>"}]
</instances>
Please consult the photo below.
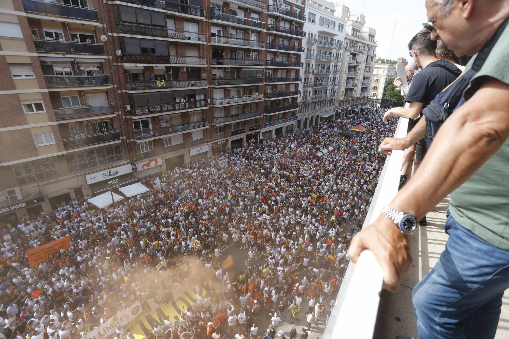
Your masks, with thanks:
<instances>
[{"instance_id":1,"label":"long brown brick apartment block with rows of balconies, at left","mask_svg":"<svg viewBox=\"0 0 509 339\"><path fill-rule=\"evenodd\" d=\"M304 6L3 2L0 219L292 131Z\"/></svg>"}]
</instances>

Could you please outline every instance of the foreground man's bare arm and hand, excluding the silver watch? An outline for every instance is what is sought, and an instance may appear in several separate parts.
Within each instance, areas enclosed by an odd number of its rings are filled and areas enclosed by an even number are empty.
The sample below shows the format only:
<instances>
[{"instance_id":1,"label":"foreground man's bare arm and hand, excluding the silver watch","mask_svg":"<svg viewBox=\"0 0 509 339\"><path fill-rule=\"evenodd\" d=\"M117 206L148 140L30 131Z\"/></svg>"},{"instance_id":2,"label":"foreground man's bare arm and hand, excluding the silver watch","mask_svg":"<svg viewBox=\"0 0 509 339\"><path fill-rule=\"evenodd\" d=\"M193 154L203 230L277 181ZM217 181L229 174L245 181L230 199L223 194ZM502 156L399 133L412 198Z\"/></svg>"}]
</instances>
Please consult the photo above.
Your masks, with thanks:
<instances>
[{"instance_id":1,"label":"foreground man's bare arm and hand, excluding the silver watch","mask_svg":"<svg viewBox=\"0 0 509 339\"><path fill-rule=\"evenodd\" d=\"M420 219L472 176L509 136L509 85L489 78L442 125L417 172L390 207ZM371 249L384 272L384 288L395 292L412 259L406 236L385 214L353 238L352 262Z\"/></svg>"}]
</instances>

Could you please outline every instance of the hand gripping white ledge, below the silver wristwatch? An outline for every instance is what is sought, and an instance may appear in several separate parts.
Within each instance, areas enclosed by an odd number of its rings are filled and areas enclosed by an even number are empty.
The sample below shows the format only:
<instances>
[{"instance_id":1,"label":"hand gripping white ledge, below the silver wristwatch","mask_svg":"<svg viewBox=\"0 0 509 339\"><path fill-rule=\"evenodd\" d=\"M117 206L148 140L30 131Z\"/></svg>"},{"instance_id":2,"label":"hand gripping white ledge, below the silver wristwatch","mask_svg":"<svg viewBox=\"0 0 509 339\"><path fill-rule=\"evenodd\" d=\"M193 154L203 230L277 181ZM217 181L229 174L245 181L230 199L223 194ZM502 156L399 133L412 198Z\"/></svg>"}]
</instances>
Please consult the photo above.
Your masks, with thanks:
<instances>
[{"instance_id":1,"label":"hand gripping white ledge, below the silver wristwatch","mask_svg":"<svg viewBox=\"0 0 509 339\"><path fill-rule=\"evenodd\" d=\"M348 257L356 263L364 249L371 250L382 267L383 288L397 292L401 277L412 264L407 237L382 213L373 224L353 237Z\"/></svg>"}]
</instances>

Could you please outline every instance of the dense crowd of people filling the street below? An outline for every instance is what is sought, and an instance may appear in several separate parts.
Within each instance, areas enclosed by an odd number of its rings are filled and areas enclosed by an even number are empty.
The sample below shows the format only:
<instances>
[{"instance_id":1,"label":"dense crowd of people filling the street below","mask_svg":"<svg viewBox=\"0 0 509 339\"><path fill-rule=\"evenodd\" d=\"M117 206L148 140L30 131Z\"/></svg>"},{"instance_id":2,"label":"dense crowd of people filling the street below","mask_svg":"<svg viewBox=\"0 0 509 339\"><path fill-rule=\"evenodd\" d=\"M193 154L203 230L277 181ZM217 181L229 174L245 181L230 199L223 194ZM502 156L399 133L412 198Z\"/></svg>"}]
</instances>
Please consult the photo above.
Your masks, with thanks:
<instances>
[{"instance_id":1,"label":"dense crowd of people filling the street below","mask_svg":"<svg viewBox=\"0 0 509 339\"><path fill-rule=\"evenodd\" d=\"M12 239L0 247L3 335L74 339L135 301L146 312L157 289L171 299L186 273L167 273L187 263L207 278L194 284L195 302L143 335L307 338L334 307L346 249L369 210L385 159L378 144L397 122L383 123L381 113L368 109L142 178L150 191L115 208L78 197L4 225ZM344 133L359 123L365 131ZM68 235L68 250L30 268L26 250ZM229 245L244 267L224 265ZM306 327L278 331L299 318ZM128 325L108 337L135 335Z\"/></svg>"}]
</instances>

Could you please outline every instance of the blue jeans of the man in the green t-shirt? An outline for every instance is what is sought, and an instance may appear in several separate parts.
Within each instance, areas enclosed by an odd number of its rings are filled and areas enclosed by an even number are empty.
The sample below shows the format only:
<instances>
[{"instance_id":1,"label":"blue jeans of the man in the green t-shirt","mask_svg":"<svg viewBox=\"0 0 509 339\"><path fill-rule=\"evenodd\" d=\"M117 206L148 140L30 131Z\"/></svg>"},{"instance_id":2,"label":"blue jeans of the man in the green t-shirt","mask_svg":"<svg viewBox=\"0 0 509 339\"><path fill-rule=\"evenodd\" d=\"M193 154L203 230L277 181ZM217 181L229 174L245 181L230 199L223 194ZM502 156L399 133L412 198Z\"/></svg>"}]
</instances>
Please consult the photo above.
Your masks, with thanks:
<instances>
[{"instance_id":1,"label":"blue jeans of the man in the green t-shirt","mask_svg":"<svg viewBox=\"0 0 509 339\"><path fill-rule=\"evenodd\" d=\"M419 338L493 338L509 288L509 251L447 216L445 250L412 293Z\"/></svg>"}]
</instances>

